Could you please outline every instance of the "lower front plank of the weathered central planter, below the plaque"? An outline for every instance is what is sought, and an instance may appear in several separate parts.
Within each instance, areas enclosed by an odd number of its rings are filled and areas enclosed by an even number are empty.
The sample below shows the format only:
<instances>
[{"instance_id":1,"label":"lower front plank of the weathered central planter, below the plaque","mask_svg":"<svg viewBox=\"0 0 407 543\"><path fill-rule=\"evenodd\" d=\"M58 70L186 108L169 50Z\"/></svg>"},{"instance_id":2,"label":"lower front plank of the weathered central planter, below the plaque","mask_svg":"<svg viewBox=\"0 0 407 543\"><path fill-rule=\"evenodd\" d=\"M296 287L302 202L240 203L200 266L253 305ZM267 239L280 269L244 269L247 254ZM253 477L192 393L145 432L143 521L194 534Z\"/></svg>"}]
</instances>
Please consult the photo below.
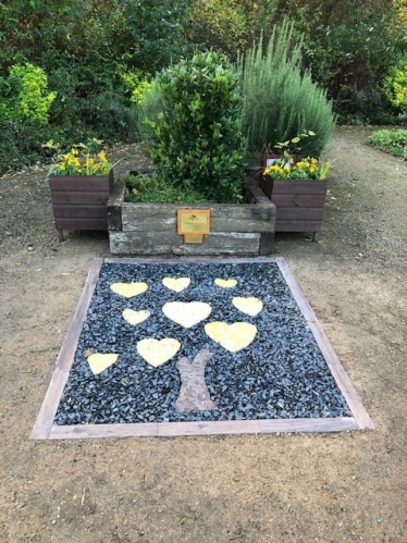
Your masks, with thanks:
<instances>
[{"instance_id":1,"label":"lower front plank of the weathered central planter, below the plaque","mask_svg":"<svg viewBox=\"0 0 407 543\"><path fill-rule=\"evenodd\" d=\"M213 233L202 244L184 244L175 232L110 232L113 255L252 255L258 254L260 234Z\"/></svg>"}]
</instances>

